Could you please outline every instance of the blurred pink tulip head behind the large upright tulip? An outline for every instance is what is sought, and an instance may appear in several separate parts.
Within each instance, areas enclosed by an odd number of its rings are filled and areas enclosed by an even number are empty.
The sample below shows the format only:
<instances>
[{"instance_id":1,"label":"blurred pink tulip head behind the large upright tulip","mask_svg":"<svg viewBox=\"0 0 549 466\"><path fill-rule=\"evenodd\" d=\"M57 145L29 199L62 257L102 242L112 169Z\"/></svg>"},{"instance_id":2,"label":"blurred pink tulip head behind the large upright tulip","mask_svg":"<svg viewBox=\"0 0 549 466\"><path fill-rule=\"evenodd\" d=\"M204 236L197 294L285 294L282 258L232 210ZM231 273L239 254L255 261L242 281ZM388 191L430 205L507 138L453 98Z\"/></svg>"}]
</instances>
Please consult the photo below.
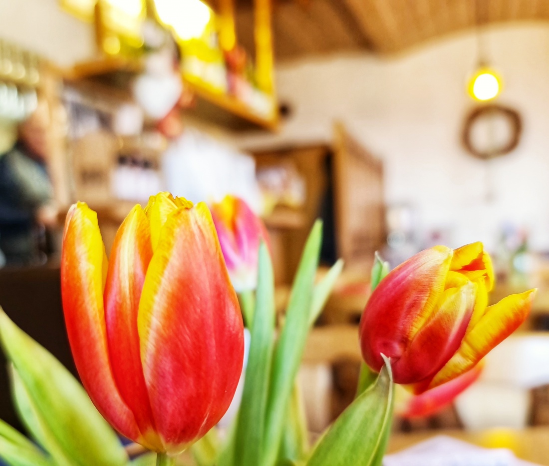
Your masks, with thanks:
<instances>
[{"instance_id":1,"label":"blurred pink tulip head behind the large upright tulip","mask_svg":"<svg viewBox=\"0 0 549 466\"><path fill-rule=\"evenodd\" d=\"M247 203L230 195L213 203L211 214L234 289L255 290L259 245L268 245L265 225Z\"/></svg>"}]
</instances>

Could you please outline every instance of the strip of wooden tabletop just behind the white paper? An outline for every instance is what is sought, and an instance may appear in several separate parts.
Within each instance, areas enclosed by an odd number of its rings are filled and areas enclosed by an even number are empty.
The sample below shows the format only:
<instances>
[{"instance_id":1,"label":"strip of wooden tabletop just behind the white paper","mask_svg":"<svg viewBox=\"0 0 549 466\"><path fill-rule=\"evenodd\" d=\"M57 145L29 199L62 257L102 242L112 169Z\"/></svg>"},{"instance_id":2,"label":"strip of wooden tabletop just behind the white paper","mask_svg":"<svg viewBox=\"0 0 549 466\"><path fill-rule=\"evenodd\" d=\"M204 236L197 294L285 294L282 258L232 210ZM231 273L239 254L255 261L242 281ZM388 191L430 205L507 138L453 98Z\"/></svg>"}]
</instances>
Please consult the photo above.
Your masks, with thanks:
<instances>
[{"instance_id":1,"label":"strip of wooden tabletop just behind the white paper","mask_svg":"<svg viewBox=\"0 0 549 466\"><path fill-rule=\"evenodd\" d=\"M482 431L436 430L395 433L389 440L387 452L394 453L411 447L436 435L449 435L459 440L485 448L508 448L518 458L549 466L549 426L531 427L522 430L490 429Z\"/></svg>"}]
</instances>

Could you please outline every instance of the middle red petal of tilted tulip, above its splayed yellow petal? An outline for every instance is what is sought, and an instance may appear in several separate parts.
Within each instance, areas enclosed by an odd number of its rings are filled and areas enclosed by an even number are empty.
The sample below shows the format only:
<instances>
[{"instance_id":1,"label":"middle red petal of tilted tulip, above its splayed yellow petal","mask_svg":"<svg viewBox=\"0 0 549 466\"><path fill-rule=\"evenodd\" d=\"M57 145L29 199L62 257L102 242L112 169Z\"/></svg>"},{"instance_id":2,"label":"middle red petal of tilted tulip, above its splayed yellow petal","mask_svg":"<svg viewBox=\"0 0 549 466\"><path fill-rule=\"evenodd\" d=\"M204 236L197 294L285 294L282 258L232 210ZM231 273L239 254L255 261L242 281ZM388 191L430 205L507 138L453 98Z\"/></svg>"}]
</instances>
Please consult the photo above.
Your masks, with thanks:
<instances>
[{"instance_id":1,"label":"middle red petal of tilted tulip, above its splayed yellow petal","mask_svg":"<svg viewBox=\"0 0 549 466\"><path fill-rule=\"evenodd\" d=\"M469 282L444 291L438 309L393 364L397 384L411 384L436 374L460 347L473 312L476 286Z\"/></svg>"}]
</instances>

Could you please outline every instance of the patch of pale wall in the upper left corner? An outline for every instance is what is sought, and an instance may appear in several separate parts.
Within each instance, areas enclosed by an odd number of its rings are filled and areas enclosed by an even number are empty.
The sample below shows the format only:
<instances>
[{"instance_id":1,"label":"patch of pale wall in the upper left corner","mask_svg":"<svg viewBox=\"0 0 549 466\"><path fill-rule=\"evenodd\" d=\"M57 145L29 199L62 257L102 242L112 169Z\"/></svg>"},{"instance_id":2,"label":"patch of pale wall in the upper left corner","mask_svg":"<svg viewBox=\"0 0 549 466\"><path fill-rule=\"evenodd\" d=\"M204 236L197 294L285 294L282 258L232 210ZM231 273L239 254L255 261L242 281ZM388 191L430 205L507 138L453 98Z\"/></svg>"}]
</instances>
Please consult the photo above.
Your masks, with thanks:
<instances>
[{"instance_id":1,"label":"patch of pale wall in the upper left corner","mask_svg":"<svg viewBox=\"0 0 549 466\"><path fill-rule=\"evenodd\" d=\"M59 8L57 0L0 0L0 38L59 66L93 57L93 26Z\"/></svg>"}]
</instances>

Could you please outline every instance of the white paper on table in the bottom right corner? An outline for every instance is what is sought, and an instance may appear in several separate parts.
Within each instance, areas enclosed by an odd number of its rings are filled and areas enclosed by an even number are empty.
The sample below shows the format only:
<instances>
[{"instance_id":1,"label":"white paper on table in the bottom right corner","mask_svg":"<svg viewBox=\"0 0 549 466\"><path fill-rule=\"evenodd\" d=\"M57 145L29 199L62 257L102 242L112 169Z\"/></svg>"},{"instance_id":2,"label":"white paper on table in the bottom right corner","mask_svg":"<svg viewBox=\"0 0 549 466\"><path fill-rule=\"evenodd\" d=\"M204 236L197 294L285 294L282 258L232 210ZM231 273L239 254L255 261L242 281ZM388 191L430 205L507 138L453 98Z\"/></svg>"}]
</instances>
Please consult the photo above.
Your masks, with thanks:
<instances>
[{"instance_id":1,"label":"white paper on table in the bottom right corner","mask_svg":"<svg viewBox=\"0 0 549 466\"><path fill-rule=\"evenodd\" d=\"M438 435L383 458L383 466L536 466L507 448L482 448Z\"/></svg>"}]
</instances>

